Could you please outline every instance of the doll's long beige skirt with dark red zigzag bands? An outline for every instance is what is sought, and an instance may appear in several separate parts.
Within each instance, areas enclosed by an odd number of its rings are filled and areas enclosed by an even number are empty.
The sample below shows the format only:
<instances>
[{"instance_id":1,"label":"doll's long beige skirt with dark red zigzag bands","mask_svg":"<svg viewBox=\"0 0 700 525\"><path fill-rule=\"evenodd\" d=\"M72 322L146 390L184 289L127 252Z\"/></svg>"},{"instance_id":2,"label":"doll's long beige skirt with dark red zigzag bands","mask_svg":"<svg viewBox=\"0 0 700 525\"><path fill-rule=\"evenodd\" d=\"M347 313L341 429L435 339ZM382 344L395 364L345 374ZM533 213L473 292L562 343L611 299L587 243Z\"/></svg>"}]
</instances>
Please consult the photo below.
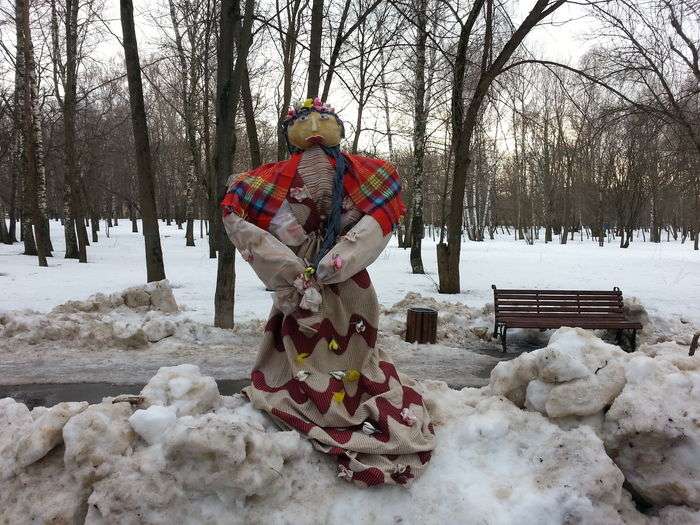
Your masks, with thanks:
<instances>
[{"instance_id":1,"label":"doll's long beige skirt with dark red zigzag bands","mask_svg":"<svg viewBox=\"0 0 700 525\"><path fill-rule=\"evenodd\" d=\"M244 393L280 426L335 456L339 477L404 485L434 448L423 398L375 346L379 305L367 271L321 293L313 317L273 309Z\"/></svg>"}]
</instances>

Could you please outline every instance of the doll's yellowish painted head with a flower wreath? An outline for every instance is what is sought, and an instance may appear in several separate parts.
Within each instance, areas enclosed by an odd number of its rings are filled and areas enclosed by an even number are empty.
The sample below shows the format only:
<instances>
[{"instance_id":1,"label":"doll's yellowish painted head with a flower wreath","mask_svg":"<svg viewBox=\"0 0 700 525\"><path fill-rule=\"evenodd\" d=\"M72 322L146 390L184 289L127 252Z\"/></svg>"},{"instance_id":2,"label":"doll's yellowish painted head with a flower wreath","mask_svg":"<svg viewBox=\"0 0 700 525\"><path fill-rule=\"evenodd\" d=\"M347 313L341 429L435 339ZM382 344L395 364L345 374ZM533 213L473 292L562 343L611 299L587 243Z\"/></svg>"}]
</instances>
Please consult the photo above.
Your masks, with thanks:
<instances>
[{"instance_id":1,"label":"doll's yellowish painted head with a flower wreath","mask_svg":"<svg viewBox=\"0 0 700 525\"><path fill-rule=\"evenodd\" d=\"M290 152L317 145L329 148L338 146L345 136L345 128L335 110L318 97L307 98L290 108L282 129Z\"/></svg>"}]
</instances>

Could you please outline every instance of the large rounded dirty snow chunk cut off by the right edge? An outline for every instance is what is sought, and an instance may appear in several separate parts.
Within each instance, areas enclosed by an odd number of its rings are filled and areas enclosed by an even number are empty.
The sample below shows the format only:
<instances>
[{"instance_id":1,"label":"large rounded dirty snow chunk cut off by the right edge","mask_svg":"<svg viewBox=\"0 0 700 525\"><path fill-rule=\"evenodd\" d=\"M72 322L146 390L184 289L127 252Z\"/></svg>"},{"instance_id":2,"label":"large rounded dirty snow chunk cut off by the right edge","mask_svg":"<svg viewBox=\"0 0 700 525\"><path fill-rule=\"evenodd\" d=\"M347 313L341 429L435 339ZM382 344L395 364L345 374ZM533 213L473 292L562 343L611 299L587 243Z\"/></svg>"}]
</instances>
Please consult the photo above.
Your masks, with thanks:
<instances>
[{"instance_id":1,"label":"large rounded dirty snow chunk cut off by the right edge","mask_svg":"<svg viewBox=\"0 0 700 525\"><path fill-rule=\"evenodd\" d=\"M700 510L700 359L675 343L641 350L605 415L606 448L646 500Z\"/></svg>"}]
</instances>

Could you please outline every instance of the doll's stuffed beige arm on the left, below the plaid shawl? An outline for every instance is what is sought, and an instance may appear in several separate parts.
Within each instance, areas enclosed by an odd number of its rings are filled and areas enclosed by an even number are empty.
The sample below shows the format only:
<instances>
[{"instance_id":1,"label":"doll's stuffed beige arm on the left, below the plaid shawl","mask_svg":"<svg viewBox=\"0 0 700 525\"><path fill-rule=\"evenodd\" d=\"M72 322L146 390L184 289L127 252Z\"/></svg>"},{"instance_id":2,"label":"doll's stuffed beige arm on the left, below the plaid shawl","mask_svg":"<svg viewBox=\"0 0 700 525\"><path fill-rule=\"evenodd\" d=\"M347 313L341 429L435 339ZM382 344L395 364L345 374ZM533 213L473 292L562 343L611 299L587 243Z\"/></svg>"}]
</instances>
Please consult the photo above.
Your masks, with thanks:
<instances>
[{"instance_id":1,"label":"doll's stuffed beige arm on the left, below the plaid shawl","mask_svg":"<svg viewBox=\"0 0 700 525\"><path fill-rule=\"evenodd\" d=\"M268 288L293 286L304 272L304 261L271 233L235 213L224 217L224 226L231 242Z\"/></svg>"}]
</instances>

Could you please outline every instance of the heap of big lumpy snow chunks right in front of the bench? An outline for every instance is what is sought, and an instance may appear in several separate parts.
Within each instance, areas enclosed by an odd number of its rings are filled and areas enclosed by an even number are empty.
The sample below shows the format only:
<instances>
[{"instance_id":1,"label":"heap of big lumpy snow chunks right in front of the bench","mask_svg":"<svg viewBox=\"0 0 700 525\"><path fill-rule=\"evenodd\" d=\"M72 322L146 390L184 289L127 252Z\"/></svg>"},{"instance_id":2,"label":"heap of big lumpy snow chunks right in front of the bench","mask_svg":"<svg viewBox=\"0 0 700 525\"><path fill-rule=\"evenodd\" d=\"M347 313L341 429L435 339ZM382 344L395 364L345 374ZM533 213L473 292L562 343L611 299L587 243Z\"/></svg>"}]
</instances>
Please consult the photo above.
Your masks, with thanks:
<instances>
[{"instance_id":1,"label":"heap of big lumpy snow chunks right in front of the bench","mask_svg":"<svg viewBox=\"0 0 700 525\"><path fill-rule=\"evenodd\" d=\"M700 510L700 359L676 343L625 353L561 328L546 348L499 363L489 388L562 428L591 427L636 493Z\"/></svg>"}]
</instances>

